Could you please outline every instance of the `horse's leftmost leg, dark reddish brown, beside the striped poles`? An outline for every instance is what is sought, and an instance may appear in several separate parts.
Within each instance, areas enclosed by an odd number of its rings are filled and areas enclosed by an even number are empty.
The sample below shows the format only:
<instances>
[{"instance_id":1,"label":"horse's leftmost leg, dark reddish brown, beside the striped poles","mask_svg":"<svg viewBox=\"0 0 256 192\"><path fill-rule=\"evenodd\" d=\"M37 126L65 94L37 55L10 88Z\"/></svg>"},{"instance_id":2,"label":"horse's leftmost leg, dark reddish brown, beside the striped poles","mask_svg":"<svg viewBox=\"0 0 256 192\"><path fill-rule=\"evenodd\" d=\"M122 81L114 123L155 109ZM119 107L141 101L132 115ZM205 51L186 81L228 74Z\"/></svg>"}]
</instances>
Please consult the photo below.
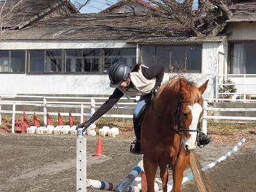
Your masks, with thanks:
<instances>
[{"instance_id":1,"label":"horse's leftmost leg, dark reddish brown, beside the striped poles","mask_svg":"<svg viewBox=\"0 0 256 192\"><path fill-rule=\"evenodd\" d=\"M147 191L148 192L155 191L154 184L156 179L157 164L152 163L151 159L144 154L143 167L147 177Z\"/></svg>"}]
</instances>

